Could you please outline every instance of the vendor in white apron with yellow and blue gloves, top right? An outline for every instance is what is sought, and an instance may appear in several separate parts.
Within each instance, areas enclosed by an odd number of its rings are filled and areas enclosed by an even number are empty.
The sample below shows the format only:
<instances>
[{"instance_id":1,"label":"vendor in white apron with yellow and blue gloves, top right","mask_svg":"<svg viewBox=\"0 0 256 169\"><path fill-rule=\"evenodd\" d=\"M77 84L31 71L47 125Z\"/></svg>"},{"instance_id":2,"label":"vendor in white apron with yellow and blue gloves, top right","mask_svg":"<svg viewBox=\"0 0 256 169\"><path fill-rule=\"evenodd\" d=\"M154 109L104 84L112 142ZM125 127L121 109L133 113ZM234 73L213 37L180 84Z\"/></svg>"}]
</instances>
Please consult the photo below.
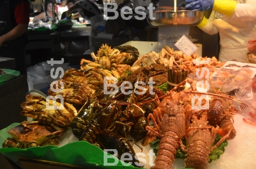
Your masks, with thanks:
<instances>
[{"instance_id":1,"label":"vendor in white apron with yellow and blue gloves, top right","mask_svg":"<svg viewBox=\"0 0 256 169\"><path fill-rule=\"evenodd\" d=\"M256 38L256 0L186 0L188 10L212 10L197 27L208 35L219 33L219 61L247 62L247 44Z\"/></svg>"}]
</instances>

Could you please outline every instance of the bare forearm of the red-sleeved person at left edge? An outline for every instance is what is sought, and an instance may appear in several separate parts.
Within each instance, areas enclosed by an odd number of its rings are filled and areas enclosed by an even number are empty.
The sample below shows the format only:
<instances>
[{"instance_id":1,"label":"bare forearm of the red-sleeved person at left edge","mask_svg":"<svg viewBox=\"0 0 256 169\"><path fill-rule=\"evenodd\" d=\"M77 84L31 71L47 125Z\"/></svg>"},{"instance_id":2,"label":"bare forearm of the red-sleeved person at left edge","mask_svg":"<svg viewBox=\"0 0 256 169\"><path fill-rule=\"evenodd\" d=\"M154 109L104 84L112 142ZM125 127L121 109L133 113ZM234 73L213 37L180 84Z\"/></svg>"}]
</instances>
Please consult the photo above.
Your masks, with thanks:
<instances>
[{"instance_id":1,"label":"bare forearm of the red-sleeved person at left edge","mask_svg":"<svg viewBox=\"0 0 256 169\"><path fill-rule=\"evenodd\" d=\"M7 41L10 41L12 39L16 39L19 36L22 36L25 32L27 32L27 24L18 24L11 31L9 31L8 33L0 36L0 46L4 42L7 42Z\"/></svg>"}]
</instances>

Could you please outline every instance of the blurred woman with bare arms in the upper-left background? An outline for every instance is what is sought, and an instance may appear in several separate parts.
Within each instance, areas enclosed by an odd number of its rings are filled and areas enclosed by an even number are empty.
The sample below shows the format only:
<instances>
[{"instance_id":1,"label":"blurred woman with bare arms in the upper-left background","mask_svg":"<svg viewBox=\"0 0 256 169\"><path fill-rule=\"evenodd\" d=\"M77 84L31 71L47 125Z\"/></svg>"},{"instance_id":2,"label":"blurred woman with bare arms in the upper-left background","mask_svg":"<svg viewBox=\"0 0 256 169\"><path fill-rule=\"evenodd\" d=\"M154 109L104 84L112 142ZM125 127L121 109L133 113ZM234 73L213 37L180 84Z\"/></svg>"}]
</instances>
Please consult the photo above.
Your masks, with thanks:
<instances>
[{"instance_id":1,"label":"blurred woman with bare arms in the upper-left background","mask_svg":"<svg viewBox=\"0 0 256 169\"><path fill-rule=\"evenodd\" d=\"M53 20L53 14L55 14L55 20L58 20L57 18L57 14L53 13L53 3L49 0L48 2L46 2L46 7L45 7L46 11L40 13L39 15L37 15L34 20L37 19L41 19L43 22L49 22L51 20Z\"/></svg>"}]
</instances>

